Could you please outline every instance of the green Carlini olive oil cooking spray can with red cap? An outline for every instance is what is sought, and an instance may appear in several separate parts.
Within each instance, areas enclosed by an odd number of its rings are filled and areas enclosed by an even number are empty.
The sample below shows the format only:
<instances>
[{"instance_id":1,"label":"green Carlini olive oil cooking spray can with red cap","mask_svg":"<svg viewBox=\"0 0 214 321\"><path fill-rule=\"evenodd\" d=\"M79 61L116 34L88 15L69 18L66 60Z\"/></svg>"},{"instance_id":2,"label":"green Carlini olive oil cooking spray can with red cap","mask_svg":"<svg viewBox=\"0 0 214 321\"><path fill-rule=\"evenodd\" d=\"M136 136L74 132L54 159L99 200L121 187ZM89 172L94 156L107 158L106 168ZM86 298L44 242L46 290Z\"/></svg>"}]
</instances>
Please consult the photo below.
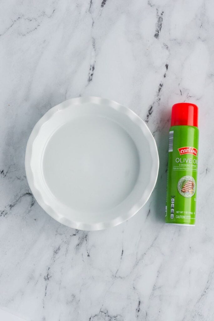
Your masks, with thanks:
<instances>
[{"instance_id":1,"label":"green Carlini olive oil cooking spray can with red cap","mask_svg":"<svg viewBox=\"0 0 214 321\"><path fill-rule=\"evenodd\" d=\"M195 225L198 172L198 107L172 107L169 130L166 223Z\"/></svg>"}]
</instances>

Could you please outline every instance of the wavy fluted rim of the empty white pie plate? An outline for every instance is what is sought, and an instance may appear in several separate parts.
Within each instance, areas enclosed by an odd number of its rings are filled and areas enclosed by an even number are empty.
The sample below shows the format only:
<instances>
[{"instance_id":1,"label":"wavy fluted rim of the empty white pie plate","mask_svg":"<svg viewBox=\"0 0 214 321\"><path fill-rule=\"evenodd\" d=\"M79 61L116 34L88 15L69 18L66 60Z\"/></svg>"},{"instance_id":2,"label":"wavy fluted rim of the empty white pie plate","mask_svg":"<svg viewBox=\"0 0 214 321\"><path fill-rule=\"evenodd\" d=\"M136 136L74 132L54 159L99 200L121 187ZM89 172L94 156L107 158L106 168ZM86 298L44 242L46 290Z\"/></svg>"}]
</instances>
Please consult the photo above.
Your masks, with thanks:
<instances>
[{"instance_id":1,"label":"wavy fluted rim of the empty white pie plate","mask_svg":"<svg viewBox=\"0 0 214 321\"><path fill-rule=\"evenodd\" d=\"M130 210L127 212L124 212L122 215L112 219L112 220L107 220L104 222L97 222L97 223L84 223L84 222L77 222L77 221L72 221L71 219L65 218L62 216L60 213L57 213L54 208L50 205L47 204L45 201L45 198L39 191L39 189L35 185L35 179L34 179L34 174L33 170L31 168L31 158L32 158L32 150L33 150L33 143L36 140L37 136L39 135L39 131L41 127L48 122L51 117L58 111L67 108L68 103L71 104L81 104L81 103L96 103L96 104L102 104L102 103L107 103L109 107L114 108L118 110L120 113L125 114L128 116L133 123L135 123L138 127L140 127L142 133L146 137L149 147L150 147L150 153L151 153L151 158L152 158L152 170L150 173L150 181L147 185L147 188L143 191L141 198L132 206ZM150 198L150 195L156 185L157 178L158 178L158 169L159 169L159 157L158 157L158 149L157 145L155 142L154 137L152 136L148 126L145 124L145 122L137 116L131 109L124 107L123 105L115 102L114 100L109 100L105 98L99 98L99 97L78 97L78 98L72 98L69 100L65 100L62 103L56 105L53 108L50 108L43 117L39 119L39 121L36 123L34 126L30 137L27 142L26 146L26 152L25 152L25 171L26 171L26 177L28 184L30 186L30 189L36 199L36 201L39 203L39 205L56 221L74 228L78 230L103 230L107 229L113 226L116 226L124 221L127 221L130 219L134 214L136 214L141 207L148 201ZM72 209L71 209L72 212Z\"/></svg>"}]
</instances>

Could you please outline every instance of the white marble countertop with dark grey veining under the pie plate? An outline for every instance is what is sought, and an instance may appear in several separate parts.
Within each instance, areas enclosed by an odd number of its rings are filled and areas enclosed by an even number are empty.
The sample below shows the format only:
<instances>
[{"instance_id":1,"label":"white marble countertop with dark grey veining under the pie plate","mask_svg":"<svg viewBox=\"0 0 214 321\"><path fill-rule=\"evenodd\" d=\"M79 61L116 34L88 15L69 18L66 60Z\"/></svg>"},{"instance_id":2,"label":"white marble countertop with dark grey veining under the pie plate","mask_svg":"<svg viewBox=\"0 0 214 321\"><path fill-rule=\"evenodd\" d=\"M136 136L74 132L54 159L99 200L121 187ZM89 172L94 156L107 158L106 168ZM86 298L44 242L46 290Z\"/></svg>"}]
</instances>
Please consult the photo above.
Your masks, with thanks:
<instances>
[{"instance_id":1,"label":"white marble countertop with dark grey veining under the pie plate","mask_svg":"<svg viewBox=\"0 0 214 321\"><path fill-rule=\"evenodd\" d=\"M0 306L28 321L213 321L214 3L3 0L0 12ZM63 100L133 109L160 157L156 188L129 221L84 232L35 202L27 139ZM200 109L195 228L164 223L171 106Z\"/></svg>"}]
</instances>

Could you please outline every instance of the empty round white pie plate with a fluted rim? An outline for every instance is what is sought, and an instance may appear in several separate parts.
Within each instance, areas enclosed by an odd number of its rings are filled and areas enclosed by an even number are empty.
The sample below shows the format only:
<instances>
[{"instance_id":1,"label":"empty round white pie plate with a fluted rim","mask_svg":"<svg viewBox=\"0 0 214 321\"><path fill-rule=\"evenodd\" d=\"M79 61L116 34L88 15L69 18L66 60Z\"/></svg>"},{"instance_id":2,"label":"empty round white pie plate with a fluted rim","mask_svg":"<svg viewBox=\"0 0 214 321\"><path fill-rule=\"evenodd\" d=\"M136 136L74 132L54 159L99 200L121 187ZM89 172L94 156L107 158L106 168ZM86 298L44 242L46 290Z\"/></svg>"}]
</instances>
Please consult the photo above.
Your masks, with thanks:
<instances>
[{"instance_id":1,"label":"empty round white pie plate with a fluted rim","mask_svg":"<svg viewBox=\"0 0 214 321\"><path fill-rule=\"evenodd\" d=\"M98 97L66 100L38 121L25 169L39 205L80 230L132 217L149 199L159 168L155 140L140 117Z\"/></svg>"}]
</instances>

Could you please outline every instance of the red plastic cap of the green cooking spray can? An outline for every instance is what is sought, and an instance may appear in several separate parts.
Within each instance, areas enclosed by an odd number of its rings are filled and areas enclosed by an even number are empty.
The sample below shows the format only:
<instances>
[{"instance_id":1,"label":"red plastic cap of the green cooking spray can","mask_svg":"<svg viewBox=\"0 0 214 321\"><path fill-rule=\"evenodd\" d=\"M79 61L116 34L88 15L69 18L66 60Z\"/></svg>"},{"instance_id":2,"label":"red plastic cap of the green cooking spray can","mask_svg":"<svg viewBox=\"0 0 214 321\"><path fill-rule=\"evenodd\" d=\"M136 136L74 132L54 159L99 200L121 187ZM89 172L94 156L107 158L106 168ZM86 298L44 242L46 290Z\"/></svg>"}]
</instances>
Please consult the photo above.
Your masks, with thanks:
<instances>
[{"instance_id":1,"label":"red plastic cap of the green cooking spray can","mask_svg":"<svg viewBox=\"0 0 214 321\"><path fill-rule=\"evenodd\" d=\"M179 102L172 106L171 126L198 127L198 106L188 102Z\"/></svg>"}]
</instances>

